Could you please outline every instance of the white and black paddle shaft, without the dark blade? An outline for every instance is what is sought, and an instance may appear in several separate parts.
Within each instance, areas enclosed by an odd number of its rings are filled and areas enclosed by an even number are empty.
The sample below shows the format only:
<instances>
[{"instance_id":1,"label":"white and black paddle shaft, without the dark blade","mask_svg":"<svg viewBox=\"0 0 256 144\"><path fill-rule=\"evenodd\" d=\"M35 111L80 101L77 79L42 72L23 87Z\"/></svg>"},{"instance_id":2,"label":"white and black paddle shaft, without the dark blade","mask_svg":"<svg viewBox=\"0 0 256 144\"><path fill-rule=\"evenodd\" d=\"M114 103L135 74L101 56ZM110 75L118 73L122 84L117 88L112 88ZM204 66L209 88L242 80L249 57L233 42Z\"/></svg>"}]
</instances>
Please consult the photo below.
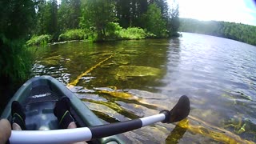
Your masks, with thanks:
<instances>
[{"instance_id":1,"label":"white and black paddle shaft, without the dark blade","mask_svg":"<svg viewBox=\"0 0 256 144\"><path fill-rule=\"evenodd\" d=\"M63 130L12 130L10 143L70 143L90 141L94 138L104 138L121 134L155 122L162 122L166 114L155 114L126 122L115 122L101 126L82 127Z\"/></svg>"}]
</instances>

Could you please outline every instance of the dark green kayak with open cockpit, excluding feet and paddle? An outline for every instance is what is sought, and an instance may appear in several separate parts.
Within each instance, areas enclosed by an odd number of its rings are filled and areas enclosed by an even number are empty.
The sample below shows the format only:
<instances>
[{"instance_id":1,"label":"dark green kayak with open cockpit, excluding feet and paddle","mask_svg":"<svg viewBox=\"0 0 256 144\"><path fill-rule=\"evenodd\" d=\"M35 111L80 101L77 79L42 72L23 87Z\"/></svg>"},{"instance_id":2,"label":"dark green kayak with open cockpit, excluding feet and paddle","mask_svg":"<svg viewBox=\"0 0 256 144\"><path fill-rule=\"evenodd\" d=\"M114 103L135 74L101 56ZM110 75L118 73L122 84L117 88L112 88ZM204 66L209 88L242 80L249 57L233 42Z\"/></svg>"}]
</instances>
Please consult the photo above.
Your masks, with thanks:
<instances>
[{"instance_id":1,"label":"dark green kayak with open cockpit, excluding feet and paddle","mask_svg":"<svg viewBox=\"0 0 256 144\"><path fill-rule=\"evenodd\" d=\"M11 103L18 101L26 114L26 130L58 130L58 120L54 116L55 102L59 98L70 98L70 114L78 127L104 125L74 93L61 82L50 76L31 78L25 82L10 99L1 118L11 120ZM92 143L125 143L118 135L97 138Z\"/></svg>"}]
</instances>

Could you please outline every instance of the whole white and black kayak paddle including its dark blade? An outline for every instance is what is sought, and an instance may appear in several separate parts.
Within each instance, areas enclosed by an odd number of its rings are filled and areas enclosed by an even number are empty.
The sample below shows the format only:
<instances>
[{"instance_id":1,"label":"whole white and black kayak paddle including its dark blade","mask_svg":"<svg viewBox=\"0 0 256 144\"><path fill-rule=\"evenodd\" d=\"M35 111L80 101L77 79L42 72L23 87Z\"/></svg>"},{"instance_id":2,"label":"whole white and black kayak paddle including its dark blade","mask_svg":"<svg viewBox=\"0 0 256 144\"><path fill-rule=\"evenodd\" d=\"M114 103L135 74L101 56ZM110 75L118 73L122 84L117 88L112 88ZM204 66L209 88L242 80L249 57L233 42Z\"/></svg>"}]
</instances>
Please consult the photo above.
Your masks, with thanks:
<instances>
[{"instance_id":1,"label":"whole white and black kayak paddle including its dark blade","mask_svg":"<svg viewBox=\"0 0 256 144\"><path fill-rule=\"evenodd\" d=\"M183 95L172 110L162 110L145 118L126 122L115 122L101 126L90 126L65 130L12 130L10 143L63 143L90 141L94 138L104 138L114 134L149 126L155 122L178 122L190 114L190 99Z\"/></svg>"}]
</instances>

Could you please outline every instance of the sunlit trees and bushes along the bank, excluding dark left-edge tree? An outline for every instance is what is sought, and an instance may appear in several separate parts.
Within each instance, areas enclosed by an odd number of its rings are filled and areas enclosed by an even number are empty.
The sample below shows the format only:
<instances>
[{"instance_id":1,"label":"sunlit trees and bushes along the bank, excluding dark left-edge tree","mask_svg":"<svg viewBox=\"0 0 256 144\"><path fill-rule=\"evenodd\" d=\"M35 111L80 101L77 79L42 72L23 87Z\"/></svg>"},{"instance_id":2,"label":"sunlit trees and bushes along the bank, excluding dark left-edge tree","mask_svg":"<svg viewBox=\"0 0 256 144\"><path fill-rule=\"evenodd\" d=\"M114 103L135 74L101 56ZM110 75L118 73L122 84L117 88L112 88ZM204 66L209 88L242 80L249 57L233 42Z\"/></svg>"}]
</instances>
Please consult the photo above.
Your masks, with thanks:
<instances>
[{"instance_id":1,"label":"sunlit trees and bushes along the bank, excluding dark left-edge tree","mask_svg":"<svg viewBox=\"0 0 256 144\"><path fill-rule=\"evenodd\" d=\"M38 0L29 44L89 39L167 38L177 35L178 5L166 0ZM134 37L137 35L137 37Z\"/></svg>"}]
</instances>

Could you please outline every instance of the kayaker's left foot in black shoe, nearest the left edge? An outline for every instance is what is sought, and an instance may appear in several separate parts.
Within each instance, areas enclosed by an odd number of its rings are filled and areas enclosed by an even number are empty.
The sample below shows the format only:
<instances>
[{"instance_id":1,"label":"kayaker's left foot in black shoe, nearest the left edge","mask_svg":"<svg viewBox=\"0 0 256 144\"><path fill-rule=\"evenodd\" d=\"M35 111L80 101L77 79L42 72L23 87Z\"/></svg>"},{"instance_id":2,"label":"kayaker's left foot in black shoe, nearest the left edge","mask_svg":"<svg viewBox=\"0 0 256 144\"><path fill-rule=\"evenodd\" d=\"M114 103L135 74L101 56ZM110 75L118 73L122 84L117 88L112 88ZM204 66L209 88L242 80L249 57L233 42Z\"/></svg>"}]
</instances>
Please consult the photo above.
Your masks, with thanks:
<instances>
[{"instance_id":1,"label":"kayaker's left foot in black shoe, nearest the left edge","mask_svg":"<svg viewBox=\"0 0 256 144\"><path fill-rule=\"evenodd\" d=\"M11 123L14 130L19 130L19 127L22 130L26 130L26 124L25 124L26 115L24 114L24 109L22 108L22 105L17 101L12 102L11 104L11 116L12 116Z\"/></svg>"}]
</instances>

